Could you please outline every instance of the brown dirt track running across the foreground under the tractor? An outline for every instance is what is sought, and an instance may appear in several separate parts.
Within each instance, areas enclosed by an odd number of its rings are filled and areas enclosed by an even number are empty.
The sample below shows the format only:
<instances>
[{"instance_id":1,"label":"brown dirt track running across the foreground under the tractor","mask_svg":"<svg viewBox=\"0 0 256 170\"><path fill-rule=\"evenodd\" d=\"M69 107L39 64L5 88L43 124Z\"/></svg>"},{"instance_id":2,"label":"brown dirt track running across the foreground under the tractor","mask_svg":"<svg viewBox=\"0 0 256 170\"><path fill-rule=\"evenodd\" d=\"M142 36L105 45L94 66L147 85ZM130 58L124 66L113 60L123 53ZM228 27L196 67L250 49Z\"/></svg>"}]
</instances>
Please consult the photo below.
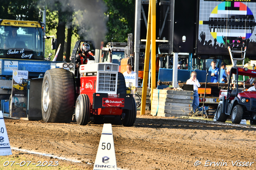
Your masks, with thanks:
<instances>
[{"instance_id":1,"label":"brown dirt track running across the foreground under the tractor","mask_svg":"<svg viewBox=\"0 0 256 170\"><path fill-rule=\"evenodd\" d=\"M93 169L103 125L4 121L11 147L81 161L60 161L60 166L70 164L79 169ZM117 167L128 170L255 170L256 127L213 123L216 122L137 114L133 127L112 125ZM17 150L12 152L23 154ZM36 155L23 156L30 160ZM198 161L201 164L195 166ZM241 166L236 161L241 162ZM215 162L215 166L210 166L210 162ZM221 164L216 165L217 162Z\"/></svg>"}]
</instances>

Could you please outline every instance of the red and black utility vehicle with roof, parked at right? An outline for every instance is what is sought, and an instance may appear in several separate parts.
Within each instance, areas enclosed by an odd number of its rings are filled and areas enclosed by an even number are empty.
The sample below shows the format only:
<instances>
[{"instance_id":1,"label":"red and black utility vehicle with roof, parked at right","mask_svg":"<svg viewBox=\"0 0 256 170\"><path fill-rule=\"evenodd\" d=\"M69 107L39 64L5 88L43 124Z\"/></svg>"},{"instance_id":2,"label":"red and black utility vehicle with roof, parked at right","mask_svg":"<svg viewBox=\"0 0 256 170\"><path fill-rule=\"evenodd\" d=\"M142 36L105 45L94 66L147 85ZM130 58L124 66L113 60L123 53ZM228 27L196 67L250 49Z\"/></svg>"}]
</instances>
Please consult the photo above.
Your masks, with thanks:
<instances>
[{"instance_id":1,"label":"red and black utility vehicle with roof, parked at right","mask_svg":"<svg viewBox=\"0 0 256 170\"><path fill-rule=\"evenodd\" d=\"M235 81L234 88L231 84L231 75L236 80L238 76L256 77L255 70L248 68L231 68L228 90L220 90L220 103L216 110L216 120L225 122L231 116L232 123L240 123L242 119L250 120L251 125L256 125L256 91L246 91L238 88L238 81ZM234 88L234 89L233 89Z\"/></svg>"}]
</instances>

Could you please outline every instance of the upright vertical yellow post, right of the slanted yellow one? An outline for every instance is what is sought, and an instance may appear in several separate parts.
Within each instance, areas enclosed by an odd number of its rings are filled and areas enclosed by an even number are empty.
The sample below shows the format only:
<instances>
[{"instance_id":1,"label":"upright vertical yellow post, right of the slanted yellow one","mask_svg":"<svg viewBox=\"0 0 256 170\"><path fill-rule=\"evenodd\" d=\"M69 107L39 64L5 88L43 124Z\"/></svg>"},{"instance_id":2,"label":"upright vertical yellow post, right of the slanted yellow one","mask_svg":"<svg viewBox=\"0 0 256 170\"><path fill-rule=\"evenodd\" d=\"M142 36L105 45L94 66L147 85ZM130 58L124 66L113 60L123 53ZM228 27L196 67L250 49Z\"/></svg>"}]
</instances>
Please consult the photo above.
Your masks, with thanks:
<instances>
[{"instance_id":1,"label":"upright vertical yellow post, right of the slanted yellow one","mask_svg":"<svg viewBox=\"0 0 256 170\"><path fill-rule=\"evenodd\" d=\"M156 88L156 0L151 0L151 104ZM151 107L152 108L152 107Z\"/></svg>"}]
</instances>

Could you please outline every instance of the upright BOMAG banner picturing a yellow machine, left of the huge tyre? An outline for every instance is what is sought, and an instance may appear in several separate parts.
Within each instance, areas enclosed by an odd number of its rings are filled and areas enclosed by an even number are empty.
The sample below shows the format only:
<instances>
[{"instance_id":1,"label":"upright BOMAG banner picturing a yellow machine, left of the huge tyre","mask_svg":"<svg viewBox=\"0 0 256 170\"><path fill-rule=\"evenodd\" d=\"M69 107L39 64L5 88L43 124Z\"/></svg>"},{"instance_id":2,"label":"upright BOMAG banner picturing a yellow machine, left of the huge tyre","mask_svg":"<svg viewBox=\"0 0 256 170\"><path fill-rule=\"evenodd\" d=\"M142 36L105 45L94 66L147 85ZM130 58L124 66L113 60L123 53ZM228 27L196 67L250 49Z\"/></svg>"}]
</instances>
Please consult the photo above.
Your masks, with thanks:
<instances>
[{"instance_id":1,"label":"upright BOMAG banner picturing a yellow machine, left of the huge tyre","mask_svg":"<svg viewBox=\"0 0 256 170\"><path fill-rule=\"evenodd\" d=\"M12 98L10 98L11 117L27 117L28 71L13 70Z\"/></svg>"}]
</instances>

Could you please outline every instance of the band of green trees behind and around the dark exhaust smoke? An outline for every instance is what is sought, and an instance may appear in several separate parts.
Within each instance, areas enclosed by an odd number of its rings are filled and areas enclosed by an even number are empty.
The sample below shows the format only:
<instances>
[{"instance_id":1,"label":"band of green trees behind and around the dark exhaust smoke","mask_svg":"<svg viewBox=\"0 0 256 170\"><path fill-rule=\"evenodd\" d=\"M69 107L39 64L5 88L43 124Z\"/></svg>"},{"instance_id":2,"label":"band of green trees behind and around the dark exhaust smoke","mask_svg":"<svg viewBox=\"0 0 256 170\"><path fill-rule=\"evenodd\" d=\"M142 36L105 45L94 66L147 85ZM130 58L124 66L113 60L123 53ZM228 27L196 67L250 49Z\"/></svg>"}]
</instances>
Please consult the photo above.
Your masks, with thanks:
<instances>
[{"instance_id":1,"label":"band of green trees behind and around the dark exhaust smoke","mask_svg":"<svg viewBox=\"0 0 256 170\"><path fill-rule=\"evenodd\" d=\"M42 11L46 9L46 35L56 35L57 48L60 43L63 44L57 61L62 61L65 41L69 41L66 43L68 45L71 42L70 39L66 39L67 28L72 29L69 31L69 34L72 33L72 39L75 35L78 39L93 40L97 49L100 49L102 41L126 42L128 33L133 32L134 0L0 0L0 2L1 19L42 21ZM46 51L50 50L48 47L46 49Z\"/></svg>"}]
</instances>

